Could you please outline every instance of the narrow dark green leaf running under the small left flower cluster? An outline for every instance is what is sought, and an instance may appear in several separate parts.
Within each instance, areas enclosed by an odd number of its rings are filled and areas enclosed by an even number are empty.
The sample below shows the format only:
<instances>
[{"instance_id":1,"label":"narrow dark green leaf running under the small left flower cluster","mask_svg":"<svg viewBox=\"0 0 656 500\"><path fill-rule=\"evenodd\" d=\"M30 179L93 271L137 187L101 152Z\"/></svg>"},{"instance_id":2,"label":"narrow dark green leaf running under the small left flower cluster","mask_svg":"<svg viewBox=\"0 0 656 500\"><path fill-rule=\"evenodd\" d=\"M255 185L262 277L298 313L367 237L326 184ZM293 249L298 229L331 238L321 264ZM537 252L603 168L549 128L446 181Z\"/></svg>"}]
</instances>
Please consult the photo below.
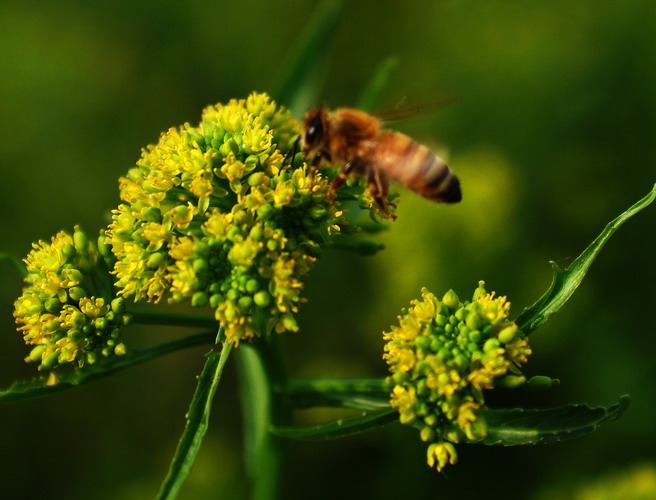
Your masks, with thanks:
<instances>
[{"instance_id":1,"label":"narrow dark green leaf running under the small left flower cluster","mask_svg":"<svg viewBox=\"0 0 656 500\"><path fill-rule=\"evenodd\" d=\"M37 377L32 380L14 382L8 389L0 391L0 401L18 401L21 399L38 398L66 391L68 389L75 389L81 385L113 375L114 373L123 371L140 363L145 363L146 361L150 361L164 354L169 354L184 349L185 347L194 347L210 343L214 340L215 336L215 332L198 333L183 339L160 344L149 349L132 351L125 356L113 358L95 365L87 365L69 373L58 374L55 383L50 381L51 377L48 375Z\"/></svg>"}]
</instances>

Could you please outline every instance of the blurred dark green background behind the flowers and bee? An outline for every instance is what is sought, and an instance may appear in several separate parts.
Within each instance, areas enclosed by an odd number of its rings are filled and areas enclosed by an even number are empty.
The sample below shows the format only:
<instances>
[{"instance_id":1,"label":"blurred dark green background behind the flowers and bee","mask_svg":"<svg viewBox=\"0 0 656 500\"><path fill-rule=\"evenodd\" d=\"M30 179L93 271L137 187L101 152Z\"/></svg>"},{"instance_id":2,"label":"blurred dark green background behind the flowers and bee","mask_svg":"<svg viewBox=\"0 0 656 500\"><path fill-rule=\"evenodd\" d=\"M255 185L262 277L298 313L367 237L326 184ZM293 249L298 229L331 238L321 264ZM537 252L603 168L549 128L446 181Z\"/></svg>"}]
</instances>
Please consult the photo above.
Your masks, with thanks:
<instances>
[{"instance_id":1,"label":"blurred dark green background behind the flowers and bee","mask_svg":"<svg viewBox=\"0 0 656 500\"><path fill-rule=\"evenodd\" d=\"M1 250L80 224L95 232L118 203L140 148L201 109L280 80L314 2L30 2L0 9ZM347 2L308 104L353 105L377 65L399 65L381 109L458 102L396 124L448 159L464 200L403 192L372 258L327 252L306 284L291 370L383 376L381 331L422 286L469 296L479 279L513 311L656 181L656 3ZM410 428L290 443L285 495L306 498L549 498L656 460L653 304L656 209L628 222L581 289L532 337L529 375L562 380L535 405L609 405L624 417L548 447L459 447L438 474ZM20 279L1 268L0 385L34 374L15 332ZM134 330L134 331L133 331ZM131 345L184 334L130 329ZM0 407L5 498L152 498L168 468L204 358L160 359L51 398ZM236 374L180 498L242 498ZM508 402L509 404L511 402ZM299 415L299 422L328 414ZM653 470L653 469L652 469ZM553 493L560 491L561 493Z\"/></svg>"}]
</instances>

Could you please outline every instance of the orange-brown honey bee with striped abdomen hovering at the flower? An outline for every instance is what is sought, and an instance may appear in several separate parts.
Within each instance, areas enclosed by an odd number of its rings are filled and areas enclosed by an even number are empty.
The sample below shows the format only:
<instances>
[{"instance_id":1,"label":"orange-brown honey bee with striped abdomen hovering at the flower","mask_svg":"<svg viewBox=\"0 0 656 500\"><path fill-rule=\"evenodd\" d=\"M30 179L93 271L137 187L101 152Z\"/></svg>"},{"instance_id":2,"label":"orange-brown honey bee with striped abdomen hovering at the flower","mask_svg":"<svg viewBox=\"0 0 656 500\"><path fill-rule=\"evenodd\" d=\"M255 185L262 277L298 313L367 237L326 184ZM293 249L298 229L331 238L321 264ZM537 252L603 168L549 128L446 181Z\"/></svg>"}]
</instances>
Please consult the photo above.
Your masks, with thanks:
<instances>
[{"instance_id":1,"label":"orange-brown honey bee with striped abdomen hovering at the flower","mask_svg":"<svg viewBox=\"0 0 656 500\"><path fill-rule=\"evenodd\" d=\"M384 130L379 118L364 111L310 109L299 140L313 168L324 161L342 165L331 185L333 194L349 174L365 176L374 200L392 217L388 179L435 202L462 199L460 181L444 161L407 135Z\"/></svg>"}]
</instances>

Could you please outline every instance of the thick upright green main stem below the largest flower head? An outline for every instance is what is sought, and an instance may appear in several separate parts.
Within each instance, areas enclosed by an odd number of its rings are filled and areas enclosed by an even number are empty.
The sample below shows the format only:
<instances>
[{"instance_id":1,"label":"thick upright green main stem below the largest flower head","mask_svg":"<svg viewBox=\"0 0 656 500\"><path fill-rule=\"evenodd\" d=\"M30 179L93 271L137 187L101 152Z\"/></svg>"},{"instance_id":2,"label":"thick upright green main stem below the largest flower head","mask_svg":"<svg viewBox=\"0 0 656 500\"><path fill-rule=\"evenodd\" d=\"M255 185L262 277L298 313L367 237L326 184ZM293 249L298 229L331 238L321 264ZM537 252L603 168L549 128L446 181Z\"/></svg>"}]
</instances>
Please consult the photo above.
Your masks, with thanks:
<instances>
[{"instance_id":1,"label":"thick upright green main stem below the largest flower head","mask_svg":"<svg viewBox=\"0 0 656 500\"><path fill-rule=\"evenodd\" d=\"M286 425L291 414L284 399L287 380L277 335L238 349L239 386L244 419L244 460L254 500L280 493L282 439L272 426Z\"/></svg>"}]
</instances>

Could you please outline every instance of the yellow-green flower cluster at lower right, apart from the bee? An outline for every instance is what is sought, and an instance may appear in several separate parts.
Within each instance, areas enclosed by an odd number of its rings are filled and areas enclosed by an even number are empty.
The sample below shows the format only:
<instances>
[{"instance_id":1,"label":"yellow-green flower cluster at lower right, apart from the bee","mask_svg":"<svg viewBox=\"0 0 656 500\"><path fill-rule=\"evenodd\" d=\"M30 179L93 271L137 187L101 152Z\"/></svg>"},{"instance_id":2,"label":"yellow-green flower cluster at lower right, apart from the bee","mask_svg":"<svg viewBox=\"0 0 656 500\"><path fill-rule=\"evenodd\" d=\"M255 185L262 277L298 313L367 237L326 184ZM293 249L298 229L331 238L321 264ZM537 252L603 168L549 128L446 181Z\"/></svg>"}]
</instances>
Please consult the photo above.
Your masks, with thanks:
<instances>
[{"instance_id":1,"label":"yellow-green flower cluster at lower right, apart from the bee","mask_svg":"<svg viewBox=\"0 0 656 500\"><path fill-rule=\"evenodd\" d=\"M454 443L487 436L479 411L484 389L515 387L531 349L508 320L510 302L487 293L479 282L471 302L449 290L441 300L425 288L384 333L384 359L395 384L391 405L400 421L419 428L428 446L428 465L454 464Z\"/></svg>"}]
</instances>

